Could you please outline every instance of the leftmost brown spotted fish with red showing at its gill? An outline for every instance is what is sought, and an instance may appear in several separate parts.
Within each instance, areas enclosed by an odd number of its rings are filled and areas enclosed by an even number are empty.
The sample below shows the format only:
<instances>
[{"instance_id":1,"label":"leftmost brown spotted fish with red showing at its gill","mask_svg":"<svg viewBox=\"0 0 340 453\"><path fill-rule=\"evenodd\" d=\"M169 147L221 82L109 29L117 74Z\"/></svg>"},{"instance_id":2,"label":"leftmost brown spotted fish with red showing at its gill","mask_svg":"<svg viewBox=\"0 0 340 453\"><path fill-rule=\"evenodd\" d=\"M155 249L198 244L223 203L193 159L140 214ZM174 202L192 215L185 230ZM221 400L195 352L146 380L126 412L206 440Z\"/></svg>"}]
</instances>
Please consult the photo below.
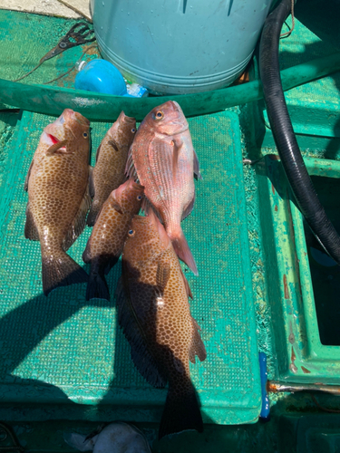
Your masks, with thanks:
<instances>
[{"instance_id":1,"label":"leftmost brown spotted fish with red showing at its gill","mask_svg":"<svg viewBox=\"0 0 340 453\"><path fill-rule=\"evenodd\" d=\"M63 111L44 129L25 181L24 236L40 241L45 295L88 280L65 251L82 233L91 203L89 128L90 121L80 113Z\"/></svg>"}]
</instances>

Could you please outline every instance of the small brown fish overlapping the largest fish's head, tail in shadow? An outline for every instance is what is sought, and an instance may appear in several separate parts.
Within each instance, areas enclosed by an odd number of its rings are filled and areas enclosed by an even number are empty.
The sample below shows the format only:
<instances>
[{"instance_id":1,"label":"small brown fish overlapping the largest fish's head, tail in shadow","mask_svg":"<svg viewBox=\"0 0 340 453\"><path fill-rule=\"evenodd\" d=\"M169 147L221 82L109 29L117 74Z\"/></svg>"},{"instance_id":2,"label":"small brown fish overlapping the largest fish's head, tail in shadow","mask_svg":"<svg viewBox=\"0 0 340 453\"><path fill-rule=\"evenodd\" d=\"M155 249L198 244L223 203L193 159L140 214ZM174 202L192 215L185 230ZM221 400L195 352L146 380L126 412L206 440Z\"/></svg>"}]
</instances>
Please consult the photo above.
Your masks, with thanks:
<instances>
[{"instance_id":1,"label":"small brown fish overlapping the largest fish's head, tail in shadow","mask_svg":"<svg viewBox=\"0 0 340 453\"><path fill-rule=\"evenodd\" d=\"M143 190L140 184L128 179L102 205L83 253L83 261L91 263L86 300L98 297L110 301L104 274L109 273L121 256L131 218L140 212Z\"/></svg>"}]
</instances>

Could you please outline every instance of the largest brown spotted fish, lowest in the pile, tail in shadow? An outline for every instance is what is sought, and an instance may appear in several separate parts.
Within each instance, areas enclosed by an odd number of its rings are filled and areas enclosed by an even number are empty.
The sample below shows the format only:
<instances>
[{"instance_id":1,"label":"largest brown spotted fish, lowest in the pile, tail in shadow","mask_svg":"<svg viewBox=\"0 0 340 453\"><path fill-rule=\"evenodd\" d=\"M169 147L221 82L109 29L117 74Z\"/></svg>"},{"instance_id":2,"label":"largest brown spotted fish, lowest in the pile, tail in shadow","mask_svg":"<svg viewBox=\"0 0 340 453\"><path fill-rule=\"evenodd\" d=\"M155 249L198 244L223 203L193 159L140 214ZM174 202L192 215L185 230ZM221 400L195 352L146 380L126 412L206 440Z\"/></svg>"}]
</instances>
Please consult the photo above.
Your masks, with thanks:
<instances>
[{"instance_id":1,"label":"largest brown spotted fish, lowest in the pile, tail in shadow","mask_svg":"<svg viewBox=\"0 0 340 453\"><path fill-rule=\"evenodd\" d=\"M189 284L160 220L132 218L122 253L117 287L119 322L131 357L155 387L169 382L159 437L185 429L203 430L199 403L190 381L189 361L207 354L199 325L189 312Z\"/></svg>"}]
</instances>

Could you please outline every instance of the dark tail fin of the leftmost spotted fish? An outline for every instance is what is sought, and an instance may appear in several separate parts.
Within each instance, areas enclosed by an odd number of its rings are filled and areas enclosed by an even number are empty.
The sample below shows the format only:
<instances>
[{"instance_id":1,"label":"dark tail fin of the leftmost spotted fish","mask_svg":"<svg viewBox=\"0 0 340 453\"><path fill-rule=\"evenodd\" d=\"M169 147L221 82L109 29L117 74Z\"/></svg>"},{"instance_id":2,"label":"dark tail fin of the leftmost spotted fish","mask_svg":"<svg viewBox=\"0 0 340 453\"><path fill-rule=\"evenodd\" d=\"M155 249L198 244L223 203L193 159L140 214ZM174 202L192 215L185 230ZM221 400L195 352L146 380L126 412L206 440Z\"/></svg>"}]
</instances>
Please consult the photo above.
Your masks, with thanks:
<instances>
[{"instance_id":1,"label":"dark tail fin of the leftmost spotted fish","mask_svg":"<svg viewBox=\"0 0 340 453\"><path fill-rule=\"evenodd\" d=\"M71 256L63 250L44 255L42 250L43 265L43 289L44 294L48 295L53 289L69 284L86 283L89 275L78 265Z\"/></svg>"}]
</instances>

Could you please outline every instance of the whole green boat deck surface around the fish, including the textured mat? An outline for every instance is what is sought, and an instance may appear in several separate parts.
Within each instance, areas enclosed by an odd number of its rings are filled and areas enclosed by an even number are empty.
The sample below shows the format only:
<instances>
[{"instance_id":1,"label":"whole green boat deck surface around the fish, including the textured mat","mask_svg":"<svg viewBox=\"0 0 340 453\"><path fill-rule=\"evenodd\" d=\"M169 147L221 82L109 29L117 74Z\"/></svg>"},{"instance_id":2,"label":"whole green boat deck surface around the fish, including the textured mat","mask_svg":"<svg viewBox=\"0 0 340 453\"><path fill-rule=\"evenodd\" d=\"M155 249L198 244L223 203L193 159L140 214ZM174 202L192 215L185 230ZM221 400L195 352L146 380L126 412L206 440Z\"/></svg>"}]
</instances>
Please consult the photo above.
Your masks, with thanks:
<instances>
[{"instance_id":1,"label":"whole green boat deck surface around the fish, including the textured mat","mask_svg":"<svg viewBox=\"0 0 340 453\"><path fill-rule=\"evenodd\" d=\"M333 14L320 11L316 0L297 2L295 31L280 43L281 69L340 51L335 0L329 5ZM73 23L0 10L0 49L7 57L0 78L31 70L55 45L56 34ZM82 53L74 48L44 63L27 83L57 77ZM92 49L91 58L96 55ZM74 73L55 84L71 87ZM335 73L286 93L307 169L338 231L339 87ZM24 178L52 120L28 111L0 112L0 421L29 451L74 451L63 432L88 433L100 422L122 419L144 429L155 452L335 452L339 416L321 414L309 393L270 394L271 419L258 421L258 352L267 355L269 380L340 383L339 271L320 257L296 208L264 102L189 118L203 180L195 182L196 204L182 227L199 276L185 265L183 270L208 352L206 361L190 365L206 425L203 434L185 432L160 442L166 390L141 378L117 325L113 293L120 263L108 278L110 303L86 302L84 284L48 298L42 294L40 246L24 238ZM108 127L92 121L92 164ZM81 265L90 233L86 227L70 250ZM338 409L335 396L317 398Z\"/></svg>"}]
</instances>

